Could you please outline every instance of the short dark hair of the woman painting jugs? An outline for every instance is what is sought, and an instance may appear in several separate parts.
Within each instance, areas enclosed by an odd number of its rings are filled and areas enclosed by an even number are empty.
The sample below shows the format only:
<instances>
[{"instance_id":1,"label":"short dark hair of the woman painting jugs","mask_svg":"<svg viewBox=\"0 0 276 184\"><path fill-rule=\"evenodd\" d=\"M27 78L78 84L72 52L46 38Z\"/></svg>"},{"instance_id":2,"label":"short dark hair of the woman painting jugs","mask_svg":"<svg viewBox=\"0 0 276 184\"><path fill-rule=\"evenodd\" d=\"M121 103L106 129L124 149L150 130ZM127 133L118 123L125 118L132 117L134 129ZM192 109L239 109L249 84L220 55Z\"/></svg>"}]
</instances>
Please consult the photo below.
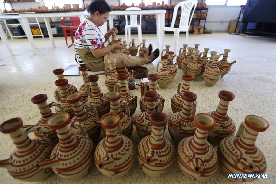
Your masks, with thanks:
<instances>
[{"instance_id":1,"label":"short dark hair of the woman painting jugs","mask_svg":"<svg viewBox=\"0 0 276 184\"><path fill-rule=\"evenodd\" d=\"M107 4L105 0L95 0L87 7L87 11L90 14L99 11L102 15L106 12L110 12L111 10L112 8L109 6L109 4Z\"/></svg>"}]
</instances>

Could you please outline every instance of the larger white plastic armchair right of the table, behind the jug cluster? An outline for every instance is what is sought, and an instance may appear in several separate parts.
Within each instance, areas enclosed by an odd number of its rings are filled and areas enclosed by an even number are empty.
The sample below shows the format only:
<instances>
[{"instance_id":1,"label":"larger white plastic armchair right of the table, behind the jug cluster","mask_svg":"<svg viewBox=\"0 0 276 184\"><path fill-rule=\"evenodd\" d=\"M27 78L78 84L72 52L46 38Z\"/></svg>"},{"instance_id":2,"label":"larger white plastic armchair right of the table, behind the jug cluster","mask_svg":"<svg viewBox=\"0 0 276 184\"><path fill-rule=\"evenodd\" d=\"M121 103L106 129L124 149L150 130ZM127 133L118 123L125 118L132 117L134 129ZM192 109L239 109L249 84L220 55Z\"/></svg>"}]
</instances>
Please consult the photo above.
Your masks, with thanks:
<instances>
[{"instance_id":1,"label":"larger white plastic armchair right of the table, behind the jug cluster","mask_svg":"<svg viewBox=\"0 0 276 184\"><path fill-rule=\"evenodd\" d=\"M181 6L181 17L179 22L179 28L174 28L174 23L177 15L177 10ZM194 6L191 18L190 13L192 11L192 8ZM174 53L177 52L177 46L178 46L178 39L179 39L179 33L180 32L186 32L186 44L188 44L188 37L189 37L189 27L192 21L192 17L194 15L194 10L197 7L197 0L186 0L179 2L174 7L174 14L171 21L170 27L164 27L162 29L162 34L165 35L165 31L173 31L174 32ZM189 21L190 18L190 21ZM164 41L164 40L163 40Z\"/></svg>"}]
</instances>

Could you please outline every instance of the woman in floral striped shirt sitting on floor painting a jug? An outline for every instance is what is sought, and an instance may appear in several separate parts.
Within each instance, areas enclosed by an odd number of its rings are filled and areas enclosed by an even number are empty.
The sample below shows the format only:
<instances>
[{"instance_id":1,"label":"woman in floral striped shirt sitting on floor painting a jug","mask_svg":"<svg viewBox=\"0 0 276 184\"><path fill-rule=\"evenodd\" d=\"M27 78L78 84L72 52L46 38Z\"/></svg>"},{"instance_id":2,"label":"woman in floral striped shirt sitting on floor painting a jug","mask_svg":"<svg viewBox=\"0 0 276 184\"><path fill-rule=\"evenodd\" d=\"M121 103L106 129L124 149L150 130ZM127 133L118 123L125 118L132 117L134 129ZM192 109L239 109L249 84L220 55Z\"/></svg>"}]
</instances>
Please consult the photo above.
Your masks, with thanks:
<instances>
[{"instance_id":1,"label":"woman in floral striped shirt sitting on floor painting a jug","mask_svg":"<svg viewBox=\"0 0 276 184\"><path fill-rule=\"evenodd\" d=\"M104 0L92 2L87 11L90 17L85 18L79 25L75 33L75 59L80 65L87 65L91 71L103 71L109 66L109 59L116 59L116 68L139 66L145 63L151 63L159 56L159 49L152 54L152 47L143 56L127 56L123 53L113 54L113 49L121 50L122 42L104 46L105 42L113 33L118 33L116 28L111 28L105 35L98 29L107 22L107 17L111 7Z\"/></svg>"}]
</instances>

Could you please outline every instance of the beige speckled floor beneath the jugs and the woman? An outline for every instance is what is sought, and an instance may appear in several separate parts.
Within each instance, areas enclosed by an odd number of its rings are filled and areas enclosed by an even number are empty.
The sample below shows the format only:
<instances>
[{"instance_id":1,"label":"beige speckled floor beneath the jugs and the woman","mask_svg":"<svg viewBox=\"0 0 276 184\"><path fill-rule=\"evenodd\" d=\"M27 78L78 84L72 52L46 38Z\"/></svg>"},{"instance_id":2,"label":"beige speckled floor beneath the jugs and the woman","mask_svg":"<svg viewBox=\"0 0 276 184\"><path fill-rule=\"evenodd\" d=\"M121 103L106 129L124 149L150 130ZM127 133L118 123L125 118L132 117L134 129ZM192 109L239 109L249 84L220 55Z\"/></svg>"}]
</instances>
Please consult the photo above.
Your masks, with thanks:
<instances>
[{"instance_id":1,"label":"beige speckled floor beneath the jugs and the woman","mask_svg":"<svg viewBox=\"0 0 276 184\"><path fill-rule=\"evenodd\" d=\"M136 35L134 35L136 36ZM124 37L122 35L122 37ZM156 47L155 35L143 35L147 43L153 43ZM56 89L54 81L56 76L52 73L53 69L65 68L70 64L75 64L73 48L65 46L63 37L54 38L56 48L51 47L48 38L36 38L37 55L32 55L27 39L9 40L15 56L10 57L2 41L0 71L0 122L9 118L21 117L25 124L34 125L40 118L37 106L30 99L37 94L45 93L48 95L48 102L54 102L53 92ZM185 34L179 39L178 48L185 42ZM252 183L275 183L275 38L248 36L240 37L228 35L227 33L214 33L205 35L190 35L189 46L199 43L199 50L209 47L219 53L224 48L232 51L229 53L228 60L237 62L232 66L231 71L220 79L212 88L205 86L204 80L199 77L191 83L190 90L197 94L197 113L215 110L219 102L218 92L228 90L236 95L230 103L228 115L232 117L236 128L244 121L248 114L255 114L265 118L270 127L266 132L260 132L256 145L263 151L267 160L267 179L255 180ZM173 44L173 36L166 35L165 44ZM156 62L154 65L156 66ZM153 65L146 65L153 67ZM151 71L153 73L153 71ZM178 70L173 82L165 90L159 90L166 102L163 112L168 116L172 115L171 97L176 93L176 86L181 81L182 71ZM66 77L69 82L77 88L82 84L82 77ZM103 93L107 92L104 85L104 76L100 76L99 85ZM140 91L133 90L133 94L140 98ZM140 114L139 106L133 120ZM33 137L33 135L30 135ZM165 137L172 141L166 128ZM100 139L103 138L101 135ZM135 146L139 142L136 131L133 130L131 139ZM14 150L14 145L8 135L0 133L0 159L6 159ZM140 170L137 159L135 159L131 170L121 179L110 179L101 174L95 166L92 167L86 178L80 181L69 181L52 174L44 183L193 183L188 180L178 169L174 161L173 167L159 178L151 178ZM0 169L0 183L23 183L12 178L7 170ZM222 175L220 169L216 171L212 178L200 183L230 183Z\"/></svg>"}]
</instances>

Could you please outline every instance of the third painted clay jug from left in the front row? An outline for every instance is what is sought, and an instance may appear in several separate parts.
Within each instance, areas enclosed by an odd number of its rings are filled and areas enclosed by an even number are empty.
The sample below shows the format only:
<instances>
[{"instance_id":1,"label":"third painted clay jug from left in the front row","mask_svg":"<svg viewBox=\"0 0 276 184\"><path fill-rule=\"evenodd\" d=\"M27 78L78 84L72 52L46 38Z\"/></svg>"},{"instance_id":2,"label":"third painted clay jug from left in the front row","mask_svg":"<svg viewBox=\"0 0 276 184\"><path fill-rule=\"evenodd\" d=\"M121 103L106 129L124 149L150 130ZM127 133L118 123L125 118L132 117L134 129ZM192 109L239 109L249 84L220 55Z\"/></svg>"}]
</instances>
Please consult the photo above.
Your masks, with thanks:
<instances>
[{"instance_id":1,"label":"third painted clay jug from left in the front row","mask_svg":"<svg viewBox=\"0 0 276 184\"><path fill-rule=\"evenodd\" d=\"M103 115L101 125L106 130L106 137L96 148L95 164L102 174L121 178L127 174L135 159L134 144L127 136L118 134L121 133L118 114Z\"/></svg>"}]
</instances>

